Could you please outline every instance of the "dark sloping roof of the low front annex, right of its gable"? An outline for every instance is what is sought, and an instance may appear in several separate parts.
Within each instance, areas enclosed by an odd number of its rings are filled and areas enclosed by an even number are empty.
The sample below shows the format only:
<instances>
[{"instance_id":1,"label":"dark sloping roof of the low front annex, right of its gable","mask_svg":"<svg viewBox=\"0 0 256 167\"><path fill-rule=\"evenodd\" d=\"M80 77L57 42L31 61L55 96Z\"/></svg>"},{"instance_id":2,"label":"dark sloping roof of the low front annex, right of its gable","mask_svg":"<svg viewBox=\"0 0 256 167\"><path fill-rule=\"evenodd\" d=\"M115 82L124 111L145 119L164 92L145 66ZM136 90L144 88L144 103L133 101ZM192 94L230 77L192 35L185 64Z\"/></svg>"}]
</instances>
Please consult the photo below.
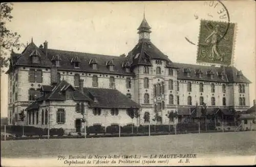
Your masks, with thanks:
<instances>
[{"instance_id":1,"label":"dark sloping roof of the low front annex, right of its gable","mask_svg":"<svg viewBox=\"0 0 256 167\"><path fill-rule=\"evenodd\" d=\"M92 108L140 108L140 105L115 89L84 88L84 93L90 97L97 96L97 101L91 101ZM92 97L91 96L91 97Z\"/></svg>"}]
</instances>

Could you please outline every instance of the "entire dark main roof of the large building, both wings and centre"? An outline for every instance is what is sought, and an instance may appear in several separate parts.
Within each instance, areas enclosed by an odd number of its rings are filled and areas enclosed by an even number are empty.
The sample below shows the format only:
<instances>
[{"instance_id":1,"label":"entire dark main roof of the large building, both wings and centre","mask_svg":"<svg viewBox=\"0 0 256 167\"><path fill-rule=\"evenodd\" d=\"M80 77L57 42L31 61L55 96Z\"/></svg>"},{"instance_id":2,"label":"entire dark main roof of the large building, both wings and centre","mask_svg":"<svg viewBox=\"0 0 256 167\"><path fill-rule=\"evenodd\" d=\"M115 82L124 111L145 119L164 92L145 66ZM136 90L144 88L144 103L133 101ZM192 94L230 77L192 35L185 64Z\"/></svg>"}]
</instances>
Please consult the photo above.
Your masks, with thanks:
<instances>
[{"instance_id":1,"label":"entire dark main roof of the large building, both wings and centre","mask_svg":"<svg viewBox=\"0 0 256 167\"><path fill-rule=\"evenodd\" d=\"M35 50L40 54L40 63L32 63L30 54ZM192 64L174 63L170 61L164 53L162 53L151 41L142 40L129 52L127 57L116 57L111 55L101 55L92 53L82 53L74 51L65 51L57 49L47 49L47 57L44 48L37 48L37 46L31 42L21 54L11 53L10 68L6 73L12 70L15 65L32 66L32 67L52 67L51 60L59 59L60 70L69 71L84 71L84 72L98 72L106 74L123 74L123 75L135 75L133 72L126 72L125 67L129 65L133 68L137 65L151 66L151 59L159 59L167 61L166 67L178 68L178 79L185 80L200 80L200 81L214 81L214 82L243 82L251 83L241 71L235 67L212 67ZM71 63L79 61L79 68L74 67ZM92 62L98 64L97 69L93 69L90 66ZM129 62L129 63L127 63ZM114 64L114 71L110 71L107 64ZM129 65L128 65L129 64ZM124 66L125 65L125 66ZM190 71L190 77L186 75L186 72ZM199 72L202 72L202 78L199 77ZM213 78L210 77L209 72L214 74ZM224 79L221 75L224 74Z\"/></svg>"}]
</instances>

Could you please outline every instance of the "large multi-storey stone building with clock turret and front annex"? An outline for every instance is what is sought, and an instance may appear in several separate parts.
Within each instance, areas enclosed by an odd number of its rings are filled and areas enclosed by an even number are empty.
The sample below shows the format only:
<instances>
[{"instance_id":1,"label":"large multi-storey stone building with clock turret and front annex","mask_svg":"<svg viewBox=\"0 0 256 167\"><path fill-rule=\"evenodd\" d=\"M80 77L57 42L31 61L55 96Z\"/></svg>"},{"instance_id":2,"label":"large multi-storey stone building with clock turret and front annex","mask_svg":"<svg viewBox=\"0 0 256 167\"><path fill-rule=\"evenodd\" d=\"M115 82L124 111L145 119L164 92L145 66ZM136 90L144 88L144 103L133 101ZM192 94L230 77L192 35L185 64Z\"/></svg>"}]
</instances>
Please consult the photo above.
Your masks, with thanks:
<instances>
[{"instance_id":1,"label":"large multi-storey stone building with clock turret and front annex","mask_svg":"<svg viewBox=\"0 0 256 167\"><path fill-rule=\"evenodd\" d=\"M9 124L79 131L83 117L87 125L168 124L168 113L191 115L205 104L224 114L249 108L250 81L242 71L172 62L151 42L145 18L138 34L126 56L50 49L47 41L37 47L33 40L22 53L12 52ZM139 116L133 120L132 110Z\"/></svg>"}]
</instances>

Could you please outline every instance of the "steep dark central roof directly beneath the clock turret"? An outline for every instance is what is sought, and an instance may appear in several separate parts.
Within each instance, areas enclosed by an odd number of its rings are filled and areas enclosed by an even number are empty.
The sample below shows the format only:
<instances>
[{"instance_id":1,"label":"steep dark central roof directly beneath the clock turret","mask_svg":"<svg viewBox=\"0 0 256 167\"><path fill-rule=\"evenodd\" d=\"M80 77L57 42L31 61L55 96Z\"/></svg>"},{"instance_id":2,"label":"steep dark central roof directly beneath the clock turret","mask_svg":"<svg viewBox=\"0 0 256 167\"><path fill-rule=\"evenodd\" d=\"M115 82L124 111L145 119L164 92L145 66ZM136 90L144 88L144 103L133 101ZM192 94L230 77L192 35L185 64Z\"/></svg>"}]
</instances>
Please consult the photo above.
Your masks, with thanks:
<instances>
[{"instance_id":1,"label":"steep dark central roof directly beneath the clock turret","mask_svg":"<svg viewBox=\"0 0 256 167\"><path fill-rule=\"evenodd\" d=\"M129 62L132 66L149 65L151 59L165 60L169 62L166 66L174 67L163 52L161 52L151 41L139 41L138 44L128 54Z\"/></svg>"}]
</instances>

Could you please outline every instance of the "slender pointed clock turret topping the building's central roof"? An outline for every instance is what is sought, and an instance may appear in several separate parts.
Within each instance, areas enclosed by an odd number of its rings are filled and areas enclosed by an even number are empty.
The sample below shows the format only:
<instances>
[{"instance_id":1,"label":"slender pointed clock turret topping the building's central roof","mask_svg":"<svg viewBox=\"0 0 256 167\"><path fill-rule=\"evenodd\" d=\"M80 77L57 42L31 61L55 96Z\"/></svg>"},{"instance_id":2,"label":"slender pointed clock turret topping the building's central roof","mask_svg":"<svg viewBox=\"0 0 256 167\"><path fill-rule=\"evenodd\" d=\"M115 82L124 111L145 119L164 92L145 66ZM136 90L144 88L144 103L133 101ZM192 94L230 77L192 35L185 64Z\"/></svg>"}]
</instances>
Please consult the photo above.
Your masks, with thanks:
<instances>
[{"instance_id":1,"label":"slender pointed clock turret topping the building's central roof","mask_svg":"<svg viewBox=\"0 0 256 167\"><path fill-rule=\"evenodd\" d=\"M145 14L143 16L143 20L140 23L140 26L138 27L137 30L139 30L138 34L139 34L139 41L141 40L148 40L150 41L150 31L151 26L148 25L146 19L145 19Z\"/></svg>"}]
</instances>

